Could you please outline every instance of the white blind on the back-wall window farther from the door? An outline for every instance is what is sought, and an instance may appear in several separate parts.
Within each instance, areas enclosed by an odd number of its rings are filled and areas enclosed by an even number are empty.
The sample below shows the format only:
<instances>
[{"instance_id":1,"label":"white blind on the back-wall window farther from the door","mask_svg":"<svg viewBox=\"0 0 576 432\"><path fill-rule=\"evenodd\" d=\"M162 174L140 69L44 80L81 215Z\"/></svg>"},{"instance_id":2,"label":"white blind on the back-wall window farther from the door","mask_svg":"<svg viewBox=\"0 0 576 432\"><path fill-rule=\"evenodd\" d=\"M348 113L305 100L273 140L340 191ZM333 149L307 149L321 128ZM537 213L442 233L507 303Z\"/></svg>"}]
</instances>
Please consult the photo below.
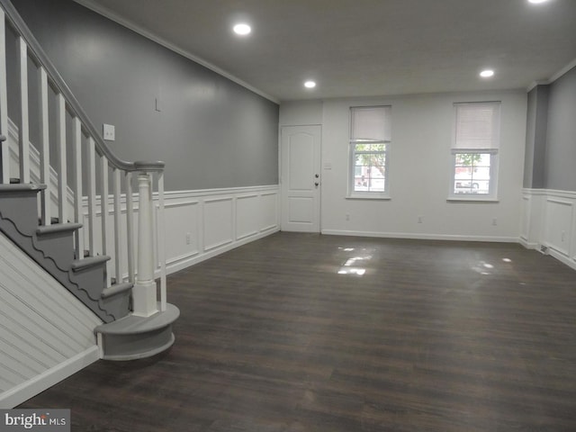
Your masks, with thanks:
<instances>
[{"instance_id":1,"label":"white blind on the back-wall window farther from the door","mask_svg":"<svg viewBox=\"0 0 576 432\"><path fill-rule=\"evenodd\" d=\"M500 147L500 102L455 103L456 131L453 150L487 150Z\"/></svg>"}]
</instances>

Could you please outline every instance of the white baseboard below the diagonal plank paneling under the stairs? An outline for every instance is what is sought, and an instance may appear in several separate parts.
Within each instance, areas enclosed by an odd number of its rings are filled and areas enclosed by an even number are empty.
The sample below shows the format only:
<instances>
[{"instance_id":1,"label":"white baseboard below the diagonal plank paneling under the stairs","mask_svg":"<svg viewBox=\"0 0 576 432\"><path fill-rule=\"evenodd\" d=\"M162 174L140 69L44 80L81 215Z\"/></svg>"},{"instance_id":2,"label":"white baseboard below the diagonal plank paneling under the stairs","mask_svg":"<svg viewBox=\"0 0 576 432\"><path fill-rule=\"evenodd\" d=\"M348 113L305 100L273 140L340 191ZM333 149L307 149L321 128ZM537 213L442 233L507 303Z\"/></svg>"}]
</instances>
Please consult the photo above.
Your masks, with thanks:
<instances>
[{"instance_id":1,"label":"white baseboard below the diagonal plank paneling under the stairs","mask_svg":"<svg viewBox=\"0 0 576 432\"><path fill-rule=\"evenodd\" d=\"M94 345L94 347L86 349L31 380L19 384L7 392L0 393L0 409L12 409L24 401L28 401L31 397L44 392L68 376L92 365L99 358L98 347Z\"/></svg>"}]
</instances>

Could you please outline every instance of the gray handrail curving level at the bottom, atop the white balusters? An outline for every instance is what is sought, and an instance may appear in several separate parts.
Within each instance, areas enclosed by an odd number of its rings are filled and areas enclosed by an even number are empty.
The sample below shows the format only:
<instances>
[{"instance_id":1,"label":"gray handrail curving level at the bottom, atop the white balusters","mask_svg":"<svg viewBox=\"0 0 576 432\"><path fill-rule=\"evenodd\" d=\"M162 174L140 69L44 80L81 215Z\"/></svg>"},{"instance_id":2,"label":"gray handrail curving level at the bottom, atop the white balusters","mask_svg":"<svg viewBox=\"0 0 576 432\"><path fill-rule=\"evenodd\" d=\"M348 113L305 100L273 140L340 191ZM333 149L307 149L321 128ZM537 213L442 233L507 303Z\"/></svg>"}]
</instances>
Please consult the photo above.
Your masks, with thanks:
<instances>
[{"instance_id":1,"label":"gray handrail curving level at the bottom, atop the white balusters","mask_svg":"<svg viewBox=\"0 0 576 432\"><path fill-rule=\"evenodd\" d=\"M66 81L64 81L64 78L60 76L56 67L54 67L48 56L44 53L44 50L40 47L38 40L36 40L26 23L24 23L20 14L18 14L14 4L12 4L10 0L0 0L0 4L2 4L6 17L10 21L11 25L16 31L18 31L18 33L20 33L23 40L26 41L28 50L34 60L38 63L38 66L46 69L46 72L50 77L51 85L55 87L55 90L57 90L58 93L64 95L71 113L82 122L85 130L87 130L90 136L94 139L94 143L100 154L105 156L112 166L125 171L162 171L164 168L164 162L138 162L137 165L132 162L121 160L121 158L116 157L112 153L96 130L94 123L89 120L85 111L80 106L80 103L76 100L76 97L66 84Z\"/></svg>"}]
</instances>

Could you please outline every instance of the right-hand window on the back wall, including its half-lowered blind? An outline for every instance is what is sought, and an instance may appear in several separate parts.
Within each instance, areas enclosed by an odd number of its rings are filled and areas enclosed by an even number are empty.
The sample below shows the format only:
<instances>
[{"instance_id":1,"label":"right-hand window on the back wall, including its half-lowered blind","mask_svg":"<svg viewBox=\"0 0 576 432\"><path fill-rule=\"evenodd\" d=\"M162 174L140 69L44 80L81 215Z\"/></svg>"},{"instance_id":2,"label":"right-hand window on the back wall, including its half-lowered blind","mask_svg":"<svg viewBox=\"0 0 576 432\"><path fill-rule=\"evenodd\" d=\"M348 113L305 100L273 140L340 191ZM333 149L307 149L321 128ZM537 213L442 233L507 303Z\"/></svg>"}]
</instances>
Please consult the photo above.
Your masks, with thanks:
<instances>
[{"instance_id":1,"label":"right-hand window on the back wall, including its half-lowered blind","mask_svg":"<svg viewBox=\"0 0 576 432\"><path fill-rule=\"evenodd\" d=\"M496 199L500 102L455 103L450 198Z\"/></svg>"}]
</instances>

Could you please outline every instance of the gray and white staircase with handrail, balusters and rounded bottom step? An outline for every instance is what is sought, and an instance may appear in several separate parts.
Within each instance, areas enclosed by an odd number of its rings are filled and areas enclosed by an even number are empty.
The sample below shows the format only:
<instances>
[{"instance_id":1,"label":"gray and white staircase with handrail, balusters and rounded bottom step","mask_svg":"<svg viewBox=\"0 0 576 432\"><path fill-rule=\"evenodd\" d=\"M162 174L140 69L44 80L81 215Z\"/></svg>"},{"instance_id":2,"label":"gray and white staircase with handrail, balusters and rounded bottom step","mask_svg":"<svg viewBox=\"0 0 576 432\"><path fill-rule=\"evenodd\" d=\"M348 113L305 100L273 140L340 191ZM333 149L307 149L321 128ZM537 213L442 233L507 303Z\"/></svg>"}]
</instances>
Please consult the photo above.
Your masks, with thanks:
<instances>
[{"instance_id":1,"label":"gray and white staircase with handrail, balusters and rounded bottom step","mask_svg":"<svg viewBox=\"0 0 576 432\"><path fill-rule=\"evenodd\" d=\"M115 157L14 5L0 6L0 231L102 320L101 358L153 356L179 315L166 302L164 163Z\"/></svg>"}]
</instances>

